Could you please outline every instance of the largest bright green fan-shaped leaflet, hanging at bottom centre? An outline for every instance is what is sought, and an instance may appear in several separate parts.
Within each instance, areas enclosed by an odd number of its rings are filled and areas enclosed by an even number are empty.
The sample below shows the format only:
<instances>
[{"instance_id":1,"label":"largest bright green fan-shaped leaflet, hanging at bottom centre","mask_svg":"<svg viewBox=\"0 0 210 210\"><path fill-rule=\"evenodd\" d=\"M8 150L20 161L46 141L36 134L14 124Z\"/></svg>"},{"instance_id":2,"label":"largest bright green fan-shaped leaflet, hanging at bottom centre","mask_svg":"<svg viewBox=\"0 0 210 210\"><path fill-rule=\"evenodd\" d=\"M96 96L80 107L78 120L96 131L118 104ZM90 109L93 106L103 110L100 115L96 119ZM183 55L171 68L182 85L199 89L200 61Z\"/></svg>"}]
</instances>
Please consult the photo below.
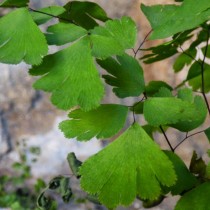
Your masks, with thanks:
<instances>
[{"instance_id":1,"label":"largest bright green fan-shaped leaflet, hanging at bottom centre","mask_svg":"<svg viewBox=\"0 0 210 210\"><path fill-rule=\"evenodd\" d=\"M136 195L155 199L160 185L176 182L171 161L137 123L86 160L80 174L81 187L109 208L129 205Z\"/></svg>"}]
</instances>

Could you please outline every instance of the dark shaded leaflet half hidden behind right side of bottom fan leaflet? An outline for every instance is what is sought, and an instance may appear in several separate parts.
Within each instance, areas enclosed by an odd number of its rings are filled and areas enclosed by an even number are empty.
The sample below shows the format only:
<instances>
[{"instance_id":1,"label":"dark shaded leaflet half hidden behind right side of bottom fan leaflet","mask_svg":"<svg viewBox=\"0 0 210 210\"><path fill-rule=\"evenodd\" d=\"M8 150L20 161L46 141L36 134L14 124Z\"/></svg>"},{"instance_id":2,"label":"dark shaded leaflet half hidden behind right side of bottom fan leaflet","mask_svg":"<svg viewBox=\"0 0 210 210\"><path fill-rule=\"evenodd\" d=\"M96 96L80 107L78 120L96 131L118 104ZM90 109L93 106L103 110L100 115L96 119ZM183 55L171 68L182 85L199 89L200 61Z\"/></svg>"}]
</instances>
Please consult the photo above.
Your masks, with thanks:
<instances>
[{"instance_id":1,"label":"dark shaded leaflet half hidden behind right side of bottom fan leaflet","mask_svg":"<svg viewBox=\"0 0 210 210\"><path fill-rule=\"evenodd\" d=\"M168 188L172 195L179 195L195 187L197 179L190 173L182 159L171 151L165 151L165 154L173 163L177 175L176 184Z\"/></svg>"}]
</instances>

